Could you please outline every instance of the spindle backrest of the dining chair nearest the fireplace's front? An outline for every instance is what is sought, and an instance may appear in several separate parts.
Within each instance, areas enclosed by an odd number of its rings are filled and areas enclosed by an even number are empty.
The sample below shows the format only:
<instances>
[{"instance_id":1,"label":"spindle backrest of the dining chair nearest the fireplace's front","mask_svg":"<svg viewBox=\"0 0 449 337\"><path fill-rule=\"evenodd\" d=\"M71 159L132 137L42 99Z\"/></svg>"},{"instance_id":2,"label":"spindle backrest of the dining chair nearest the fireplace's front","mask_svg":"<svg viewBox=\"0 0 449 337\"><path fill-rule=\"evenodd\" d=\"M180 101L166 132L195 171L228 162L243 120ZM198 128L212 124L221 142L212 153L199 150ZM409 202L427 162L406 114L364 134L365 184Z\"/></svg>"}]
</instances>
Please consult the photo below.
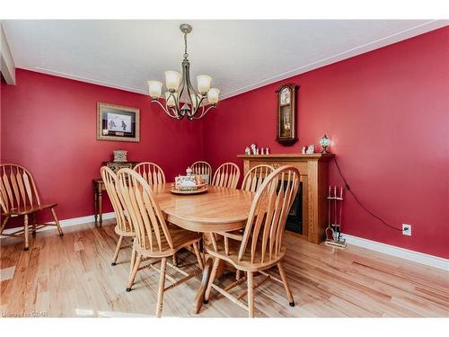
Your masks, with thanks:
<instances>
[{"instance_id":1,"label":"spindle backrest of the dining chair nearest the fireplace's front","mask_svg":"<svg viewBox=\"0 0 449 337\"><path fill-rule=\"evenodd\" d=\"M286 217L299 188L294 166L281 166L260 185L252 200L238 258L250 254L251 263L275 260L281 252Z\"/></svg>"}]
</instances>

